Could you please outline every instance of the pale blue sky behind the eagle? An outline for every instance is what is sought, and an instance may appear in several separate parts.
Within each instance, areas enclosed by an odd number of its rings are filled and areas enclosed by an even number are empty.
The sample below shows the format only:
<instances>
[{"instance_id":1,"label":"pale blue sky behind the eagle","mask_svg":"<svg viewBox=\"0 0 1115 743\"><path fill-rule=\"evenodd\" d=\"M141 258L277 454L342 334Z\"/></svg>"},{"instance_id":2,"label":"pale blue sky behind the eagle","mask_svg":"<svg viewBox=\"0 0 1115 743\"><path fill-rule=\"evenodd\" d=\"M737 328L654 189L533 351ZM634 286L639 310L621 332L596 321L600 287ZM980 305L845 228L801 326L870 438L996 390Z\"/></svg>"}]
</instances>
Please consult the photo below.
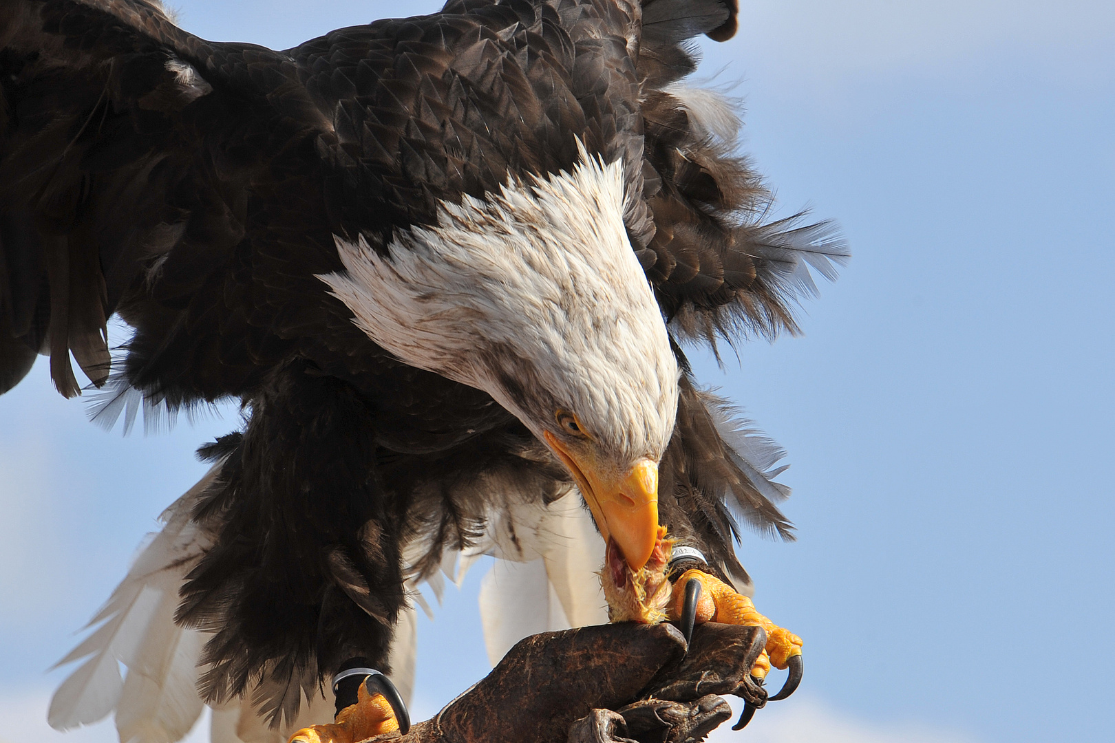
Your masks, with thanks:
<instances>
[{"instance_id":1,"label":"pale blue sky behind the eagle","mask_svg":"<svg viewBox=\"0 0 1115 743\"><path fill-rule=\"evenodd\" d=\"M180 8L201 36L288 47L433 4ZM759 608L805 638L807 675L752 740L1108 740L1115 6L741 6L702 74L744 99L782 213L838 219L854 253L804 306L804 336L698 362L793 465L799 540L739 553ZM230 409L120 439L46 372L0 398L11 743L38 732L59 678L43 672L202 473L193 448L236 424ZM487 667L478 579L423 620L426 712ZM83 736L110 731L67 740Z\"/></svg>"}]
</instances>

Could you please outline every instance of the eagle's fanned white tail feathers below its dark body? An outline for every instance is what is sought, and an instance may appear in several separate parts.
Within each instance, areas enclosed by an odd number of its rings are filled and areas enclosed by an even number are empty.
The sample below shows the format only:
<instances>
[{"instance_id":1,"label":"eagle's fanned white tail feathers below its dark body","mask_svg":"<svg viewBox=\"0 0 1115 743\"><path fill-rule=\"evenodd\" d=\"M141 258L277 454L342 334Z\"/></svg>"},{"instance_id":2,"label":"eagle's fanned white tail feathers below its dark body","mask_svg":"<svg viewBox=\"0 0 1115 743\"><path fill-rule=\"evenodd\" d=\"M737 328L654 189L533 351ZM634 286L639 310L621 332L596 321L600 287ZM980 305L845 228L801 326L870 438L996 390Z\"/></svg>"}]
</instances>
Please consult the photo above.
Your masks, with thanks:
<instances>
[{"instance_id":1,"label":"eagle's fanned white tail feathers below its dark body","mask_svg":"<svg viewBox=\"0 0 1115 743\"><path fill-rule=\"evenodd\" d=\"M190 516L216 471L214 467L166 509L163 531L140 549L128 575L89 624L100 626L59 663L88 657L55 693L51 726L65 730L93 723L115 708L122 743L176 743L200 717L197 662L206 636L175 625L174 610L186 574L213 544L213 536ZM603 542L575 491L549 506L505 502L493 514L486 537L465 553L445 555L440 570L426 579L439 596L445 578L459 585L483 555L502 558L481 593L493 664L530 634L607 622L594 575L603 561ZM429 612L415 581L408 587ZM389 658L391 678L405 700L414 692L416 626L415 606L407 606ZM126 678L120 676L122 663ZM284 743L300 727L331 722L332 705L327 691L326 697L308 701L291 725L275 731L248 700L237 700L213 708L211 742Z\"/></svg>"}]
</instances>

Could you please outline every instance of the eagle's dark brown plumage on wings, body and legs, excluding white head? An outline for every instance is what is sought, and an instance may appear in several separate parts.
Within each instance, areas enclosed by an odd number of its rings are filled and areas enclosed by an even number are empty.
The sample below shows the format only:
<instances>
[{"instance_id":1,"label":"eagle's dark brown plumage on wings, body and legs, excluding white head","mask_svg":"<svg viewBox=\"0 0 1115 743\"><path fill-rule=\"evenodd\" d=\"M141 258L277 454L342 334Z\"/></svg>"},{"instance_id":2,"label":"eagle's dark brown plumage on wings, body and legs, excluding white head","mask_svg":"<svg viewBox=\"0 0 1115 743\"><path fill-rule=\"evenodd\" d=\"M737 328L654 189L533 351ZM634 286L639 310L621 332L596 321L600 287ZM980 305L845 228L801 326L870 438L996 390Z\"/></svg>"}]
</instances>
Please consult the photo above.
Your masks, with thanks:
<instances>
[{"instance_id":1,"label":"eagle's dark brown plumage on wings, body and legs, excluding white head","mask_svg":"<svg viewBox=\"0 0 1115 743\"><path fill-rule=\"evenodd\" d=\"M671 87L695 69L688 40L730 37L736 12L450 0L279 52L198 39L148 0L0 7L0 391L49 352L77 394L72 353L108 384L109 424L133 389L251 411L205 452L224 466L196 518L220 537L178 613L216 632L211 698L255 692L290 716L299 685L382 661L405 540L428 539L415 568L433 569L484 528L482 479L541 499L568 485L486 393L353 325L317 277L342 270L333 235L381 244L432 224L439 199L569 169L581 141L642 194L624 222L677 341L795 330L805 265L830 276L841 244L827 225L762 223L769 193ZM113 313L135 334L110 370ZM662 520L746 580L733 512L789 525L719 418L686 371Z\"/></svg>"}]
</instances>

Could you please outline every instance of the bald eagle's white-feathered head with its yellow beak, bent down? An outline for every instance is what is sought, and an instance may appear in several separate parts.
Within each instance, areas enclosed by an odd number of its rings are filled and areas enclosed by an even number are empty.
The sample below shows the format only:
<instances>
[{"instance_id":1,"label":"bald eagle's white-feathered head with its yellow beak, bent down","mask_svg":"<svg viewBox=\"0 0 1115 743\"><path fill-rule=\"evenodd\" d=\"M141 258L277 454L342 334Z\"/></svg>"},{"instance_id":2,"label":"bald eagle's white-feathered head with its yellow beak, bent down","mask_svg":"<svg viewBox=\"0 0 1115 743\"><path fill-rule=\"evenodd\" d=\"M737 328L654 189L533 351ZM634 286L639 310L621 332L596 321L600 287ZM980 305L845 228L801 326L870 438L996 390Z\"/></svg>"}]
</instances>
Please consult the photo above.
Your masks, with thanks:
<instances>
[{"instance_id":1,"label":"bald eagle's white-feathered head with its yellow beak, bent down","mask_svg":"<svg viewBox=\"0 0 1115 743\"><path fill-rule=\"evenodd\" d=\"M655 546L678 366L628 239L630 197L620 163L585 156L442 203L436 227L386 250L338 238L347 272L321 278L372 341L484 390L546 442L638 570Z\"/></svg>"}]
</instances>

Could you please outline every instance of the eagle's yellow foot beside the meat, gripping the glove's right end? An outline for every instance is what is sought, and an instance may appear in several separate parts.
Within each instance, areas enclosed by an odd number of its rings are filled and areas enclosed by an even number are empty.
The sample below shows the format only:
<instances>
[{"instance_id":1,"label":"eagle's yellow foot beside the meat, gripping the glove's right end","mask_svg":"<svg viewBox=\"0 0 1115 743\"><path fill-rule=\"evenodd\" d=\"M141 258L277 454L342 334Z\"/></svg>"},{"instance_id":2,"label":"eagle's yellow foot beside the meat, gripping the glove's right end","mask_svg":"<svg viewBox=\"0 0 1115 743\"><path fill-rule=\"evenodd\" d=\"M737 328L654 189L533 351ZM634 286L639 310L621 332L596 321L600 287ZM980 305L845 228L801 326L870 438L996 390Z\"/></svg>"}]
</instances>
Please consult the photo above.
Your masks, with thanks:
<instances>
[{"instance_id":1,"label":"eagle's yellow foot beside the meat, gripping the glove's right end","mask_svg":"<svg viewBox=\"0 0 1115 743\"><path fill-rule=\"evenodd\" d=\"M697 599L697 623L721 622L753 627L763 627L767 635L766 651L752 667L752 676L766 678L770 666L785 668L789 659L802 654L802 638L783 629L755 609L752 599L737 594L731 586L716 576L700 570L686 570L678 578L676 586L685 586L690 578L697 578L701 584L700 598ZM670 606L670 616L680 617L685 604L685 592L675 590ZM796 685L796 684L795 684ZM793 691L793 690L791 690ZM788 695L788 694L787 694Z\"/></svg>"}]
</instances>

